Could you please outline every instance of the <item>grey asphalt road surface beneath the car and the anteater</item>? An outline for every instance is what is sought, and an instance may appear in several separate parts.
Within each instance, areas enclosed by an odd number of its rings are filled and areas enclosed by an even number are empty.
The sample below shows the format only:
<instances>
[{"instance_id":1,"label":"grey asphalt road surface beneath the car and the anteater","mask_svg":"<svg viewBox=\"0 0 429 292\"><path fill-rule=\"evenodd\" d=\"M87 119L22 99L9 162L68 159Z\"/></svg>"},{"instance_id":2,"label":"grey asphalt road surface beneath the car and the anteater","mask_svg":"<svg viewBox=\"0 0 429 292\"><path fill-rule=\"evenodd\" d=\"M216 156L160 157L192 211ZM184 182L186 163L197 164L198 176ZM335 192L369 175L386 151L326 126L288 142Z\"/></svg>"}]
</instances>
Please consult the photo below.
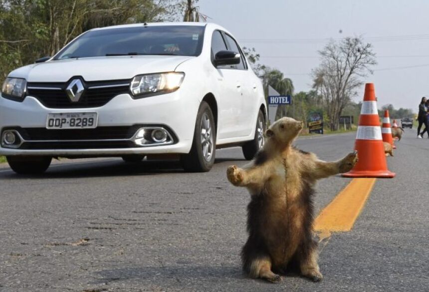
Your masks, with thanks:
<instances>
[{"instance_id":1,"label":"grey asphalt road surface beneath the car and the anteater","mask_svg":"<svg viewBox=\"0 0 429 292\"><path fill-rule=\"evenodd\" d=\"M297 145L336 160L354 136ZM40 177L0 165L0 291L429 291L429 139L407 130L397 145L397 177L377 180L351 232L321 243L321 283L241 273L249 195L225 178L246 163L239 148L218 151L202 174L120 159L62 160ZM349 182L320 181L317 212Z\"/></svg>"}]
</instances>

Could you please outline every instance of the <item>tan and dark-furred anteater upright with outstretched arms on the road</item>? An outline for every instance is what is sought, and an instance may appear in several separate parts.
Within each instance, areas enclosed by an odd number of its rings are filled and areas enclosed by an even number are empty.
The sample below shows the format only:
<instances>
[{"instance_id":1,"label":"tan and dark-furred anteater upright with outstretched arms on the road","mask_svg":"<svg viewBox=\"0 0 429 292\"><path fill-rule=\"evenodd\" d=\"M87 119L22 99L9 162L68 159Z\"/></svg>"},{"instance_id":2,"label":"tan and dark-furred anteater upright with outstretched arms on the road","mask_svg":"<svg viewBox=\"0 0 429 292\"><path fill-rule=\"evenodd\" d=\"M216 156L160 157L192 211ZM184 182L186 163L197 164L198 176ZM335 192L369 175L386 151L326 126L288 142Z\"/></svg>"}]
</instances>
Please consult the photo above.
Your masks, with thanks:
<instances>
[{"instance_id":1,"label":"tan and dark-furred anteater upright with outstretched arms on the road","mask_svg":"<svg viewBox=\"0 0 429 292\"><path fill-rule=\"evenodd\" d=\"M357 154L335 162L319 160L300 151L292 142L303 123L292 118L276 121L266 131L263 148L244 168L230 166L228 180L246 187L251 195L247 207L249 237L241 252L243 270L251 278L281 280L289 264L302 275L320 281L317 243L313 240L313 185L352 169Z\"/></svg>"}]
</instances>

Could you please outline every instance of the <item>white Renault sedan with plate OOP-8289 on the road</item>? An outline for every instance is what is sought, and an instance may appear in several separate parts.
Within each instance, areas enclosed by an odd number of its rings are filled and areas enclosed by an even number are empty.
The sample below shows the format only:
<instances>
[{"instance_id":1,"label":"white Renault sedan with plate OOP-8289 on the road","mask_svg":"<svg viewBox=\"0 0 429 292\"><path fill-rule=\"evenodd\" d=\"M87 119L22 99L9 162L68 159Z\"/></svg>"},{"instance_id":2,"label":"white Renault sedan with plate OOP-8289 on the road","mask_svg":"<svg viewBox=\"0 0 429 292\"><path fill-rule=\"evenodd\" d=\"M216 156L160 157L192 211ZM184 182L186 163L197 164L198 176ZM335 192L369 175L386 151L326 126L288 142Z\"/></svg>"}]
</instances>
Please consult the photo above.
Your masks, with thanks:
<instances>
[{"instance_id":1,"label":"white Renault sedan with plate OOP-8289 on the road","mask_svg":"<svg viewBox=\"0 0 429 292\"><path fill-rule=\"evenodd\" d=\"M260 79L232 34L214 23L95 28L55 56L9 73L0 97L0 155L16 173L52 157L140 161L180 154L209 171L215 149L263 145Z\"/></svg>"}]
</instances>

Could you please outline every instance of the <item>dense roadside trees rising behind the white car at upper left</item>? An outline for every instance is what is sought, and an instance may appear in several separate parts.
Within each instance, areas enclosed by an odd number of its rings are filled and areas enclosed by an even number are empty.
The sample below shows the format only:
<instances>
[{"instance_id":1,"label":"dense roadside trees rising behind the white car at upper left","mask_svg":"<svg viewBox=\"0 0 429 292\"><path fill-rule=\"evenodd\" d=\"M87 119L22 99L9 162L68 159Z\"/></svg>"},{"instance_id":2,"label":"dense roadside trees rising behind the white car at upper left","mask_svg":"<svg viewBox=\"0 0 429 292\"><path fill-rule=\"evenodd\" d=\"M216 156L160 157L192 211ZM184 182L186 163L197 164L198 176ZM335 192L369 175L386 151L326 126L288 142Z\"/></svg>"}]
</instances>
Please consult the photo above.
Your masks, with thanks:
<instances>
[{"instance_id":1,"label":"dense roadside trees rising behind the white car at upper left","mask_svg":"<svg viewBox=\"0 0 429 292\"><path fill-rule=\"evenodd\" d=\"M100 26L176 19L178 0L0 0L0 82Z\"/></svg>"}]
</instances>

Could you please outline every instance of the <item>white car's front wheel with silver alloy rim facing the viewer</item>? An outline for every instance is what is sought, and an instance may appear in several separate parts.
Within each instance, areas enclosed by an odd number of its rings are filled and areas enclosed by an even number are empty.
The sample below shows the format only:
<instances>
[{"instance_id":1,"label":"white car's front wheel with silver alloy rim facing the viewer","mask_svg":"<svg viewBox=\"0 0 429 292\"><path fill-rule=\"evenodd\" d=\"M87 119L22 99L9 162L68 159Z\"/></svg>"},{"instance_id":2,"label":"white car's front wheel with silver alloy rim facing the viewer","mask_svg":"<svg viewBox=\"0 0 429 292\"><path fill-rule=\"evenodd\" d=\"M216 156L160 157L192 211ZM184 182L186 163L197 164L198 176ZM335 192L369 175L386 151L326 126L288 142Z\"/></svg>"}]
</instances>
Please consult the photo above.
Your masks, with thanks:
<instances>
[{"instance_id":1,"label":"white car's front wheel with silver alloy rim facing the viewer","mask_svg":"<svg viewBox=\"0 0 429 292\"><path fill-rule=\"evenodd\" d=\"M181 163L187 172L208 172L216 152L216 128L209 104L203 101L198 109L194 139L189 154L181 155Z\"/></svg>"}]
</instances>

